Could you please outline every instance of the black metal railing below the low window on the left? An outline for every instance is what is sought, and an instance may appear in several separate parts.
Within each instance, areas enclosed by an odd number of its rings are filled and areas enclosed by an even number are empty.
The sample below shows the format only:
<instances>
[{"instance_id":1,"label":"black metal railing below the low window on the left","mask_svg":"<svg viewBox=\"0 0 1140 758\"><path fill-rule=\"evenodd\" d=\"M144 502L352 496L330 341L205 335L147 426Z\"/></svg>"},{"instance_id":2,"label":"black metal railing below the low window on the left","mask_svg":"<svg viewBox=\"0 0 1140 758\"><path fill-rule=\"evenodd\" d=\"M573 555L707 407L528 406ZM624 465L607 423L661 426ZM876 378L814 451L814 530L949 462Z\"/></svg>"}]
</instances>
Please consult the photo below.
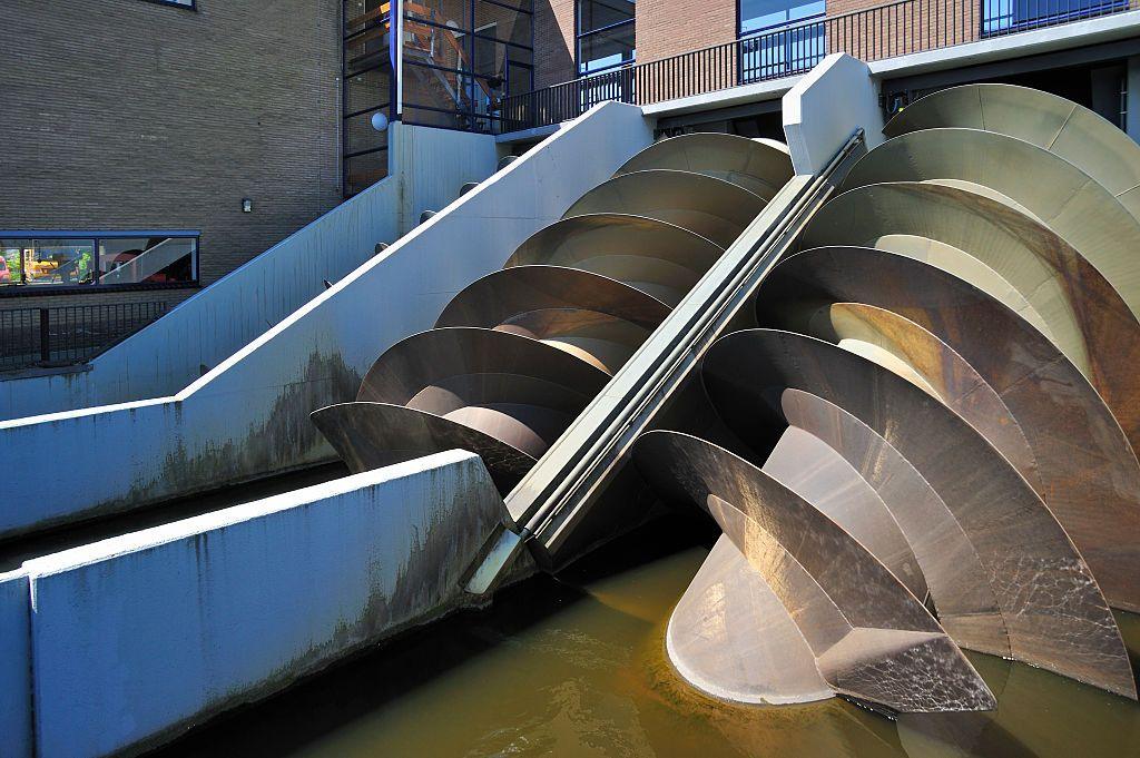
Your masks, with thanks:
<instances>
[{"instance_id":1,"label":"black metal railing below the low window on the left","mask_svg":"<svg viewBox=\"0 0 1140 758\"><path fill-rule=\"evenodd\" d=\"M164 302L0 310L0 370L84 362L165 312Z\"/></svg>"}]
</instances>

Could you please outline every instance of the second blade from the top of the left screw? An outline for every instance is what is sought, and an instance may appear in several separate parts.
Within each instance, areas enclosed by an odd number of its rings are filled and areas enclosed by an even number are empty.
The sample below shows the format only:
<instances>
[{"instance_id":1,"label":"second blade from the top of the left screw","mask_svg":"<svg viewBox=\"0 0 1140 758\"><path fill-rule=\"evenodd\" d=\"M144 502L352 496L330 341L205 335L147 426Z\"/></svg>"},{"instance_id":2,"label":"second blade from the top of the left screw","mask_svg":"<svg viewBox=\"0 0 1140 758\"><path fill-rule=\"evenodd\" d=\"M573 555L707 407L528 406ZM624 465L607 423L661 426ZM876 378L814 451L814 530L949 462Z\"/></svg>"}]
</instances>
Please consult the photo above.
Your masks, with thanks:
<instances>
[{"instance_id":1,"label":"second blade from the top of the left screw","mask_svg":"<svg viewBox=\"0 0 1140 758\"><path fill-rule=\"evenodd\" d=\"M764 198L700 173L652 169L624 173L581 196L563 218L627 213L674 223L722 247L733 243L764 210Z\"/></svg>"}]
</instances>

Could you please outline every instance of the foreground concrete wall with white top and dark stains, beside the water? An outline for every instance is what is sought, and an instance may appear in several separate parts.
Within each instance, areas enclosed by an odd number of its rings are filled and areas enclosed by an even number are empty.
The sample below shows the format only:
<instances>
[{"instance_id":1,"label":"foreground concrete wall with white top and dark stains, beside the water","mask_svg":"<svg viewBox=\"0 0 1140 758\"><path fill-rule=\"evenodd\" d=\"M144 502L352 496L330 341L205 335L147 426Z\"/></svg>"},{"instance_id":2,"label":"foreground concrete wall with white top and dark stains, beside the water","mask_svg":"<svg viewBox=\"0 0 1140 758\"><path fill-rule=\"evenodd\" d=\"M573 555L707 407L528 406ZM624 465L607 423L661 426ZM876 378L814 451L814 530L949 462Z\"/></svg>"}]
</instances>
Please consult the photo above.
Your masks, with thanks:
<instances>
[{"instance_id":1,"label":"foreground concrete wall with white top and dark stains, beside the water","mask_svg":"<svg viewBox=\"0 0 1140 758\"><path fill-rule=\"evenodd\" d=\"M153 747L457 606L503 507L451 450L28 561L36 755Z\"/></svg>"}]
</instances>

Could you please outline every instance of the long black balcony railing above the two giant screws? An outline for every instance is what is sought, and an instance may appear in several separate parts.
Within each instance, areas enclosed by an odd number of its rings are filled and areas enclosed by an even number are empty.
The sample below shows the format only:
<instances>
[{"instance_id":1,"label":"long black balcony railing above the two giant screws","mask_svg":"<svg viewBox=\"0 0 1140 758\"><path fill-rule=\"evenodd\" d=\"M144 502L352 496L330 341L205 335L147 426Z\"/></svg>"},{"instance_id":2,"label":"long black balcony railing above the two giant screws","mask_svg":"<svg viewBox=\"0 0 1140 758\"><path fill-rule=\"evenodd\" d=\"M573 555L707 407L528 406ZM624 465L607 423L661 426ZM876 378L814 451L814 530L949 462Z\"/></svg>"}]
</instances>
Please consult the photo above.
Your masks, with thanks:
<instances>
[{"instance_id":1,"label":"long black balcony railing above the two giant screws","mask_svg":"<svg viewBox=\"0 0 1140 758\"><path fill-rule=\"evenodd\" d=\"M901 0L507 97L503 131L560 123L604 100L651 105L791 76L831 52L881 60L1129 9L1130 0Z\"/></svg>"}]
</instances>

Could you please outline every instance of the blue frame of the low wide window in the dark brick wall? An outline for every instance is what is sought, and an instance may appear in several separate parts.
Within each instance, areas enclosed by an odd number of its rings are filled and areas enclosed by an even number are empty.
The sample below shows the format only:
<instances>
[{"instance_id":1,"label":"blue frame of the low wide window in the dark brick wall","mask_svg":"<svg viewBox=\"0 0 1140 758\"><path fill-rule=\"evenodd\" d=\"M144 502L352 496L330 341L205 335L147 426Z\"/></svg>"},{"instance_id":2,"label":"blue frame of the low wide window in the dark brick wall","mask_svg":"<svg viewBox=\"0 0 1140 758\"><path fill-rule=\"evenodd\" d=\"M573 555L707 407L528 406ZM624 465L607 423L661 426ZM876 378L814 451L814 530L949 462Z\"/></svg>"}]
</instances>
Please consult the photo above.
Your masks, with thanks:
<instances>
[{"instance_id":1,"label":"blue frame of the low wide window in the dark brick wall","mask_svg":"<svg viewBox=\"0 0 1140 758\"><path fill-rule=\"evenodd\" d=\"M59 295L99 292L132 292L144 290L199 288L202 261L201 229L0 229L0 239L90 239L93 244L95 266L98 268L99 243L103 239L130 239L133 237L186 237L194 239L190 259L192 279L187 282L136 282L130 284L6 284L0 285L0 299L34 298L36 295Z\"/></svg>"}]
</instances>

